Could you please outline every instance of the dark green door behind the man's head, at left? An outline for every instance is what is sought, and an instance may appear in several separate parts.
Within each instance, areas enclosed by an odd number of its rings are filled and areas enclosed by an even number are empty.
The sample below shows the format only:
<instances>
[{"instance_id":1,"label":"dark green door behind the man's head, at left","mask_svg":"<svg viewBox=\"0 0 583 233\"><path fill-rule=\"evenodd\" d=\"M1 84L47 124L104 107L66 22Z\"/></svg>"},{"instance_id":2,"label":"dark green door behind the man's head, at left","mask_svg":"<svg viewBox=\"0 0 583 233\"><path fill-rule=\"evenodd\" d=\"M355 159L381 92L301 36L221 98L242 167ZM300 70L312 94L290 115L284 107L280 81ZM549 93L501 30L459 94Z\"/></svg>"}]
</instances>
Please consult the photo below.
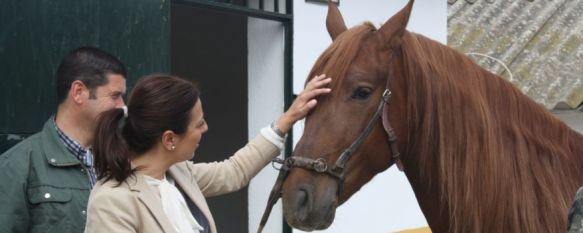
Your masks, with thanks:
<instances>
[{"instance_id":1,"label":"dark green door behind the man's head, at left","mask_svg":"<svg viewBox=\"0 0 583 233\"><path fill-rule=\"evenodd\" d=\"M56 112L55 73L74 48L117 56L128 69L128 91L142 75L170 71L168 1L0 0L0 6L0 154Z\"/></svg>"}]
</instances>

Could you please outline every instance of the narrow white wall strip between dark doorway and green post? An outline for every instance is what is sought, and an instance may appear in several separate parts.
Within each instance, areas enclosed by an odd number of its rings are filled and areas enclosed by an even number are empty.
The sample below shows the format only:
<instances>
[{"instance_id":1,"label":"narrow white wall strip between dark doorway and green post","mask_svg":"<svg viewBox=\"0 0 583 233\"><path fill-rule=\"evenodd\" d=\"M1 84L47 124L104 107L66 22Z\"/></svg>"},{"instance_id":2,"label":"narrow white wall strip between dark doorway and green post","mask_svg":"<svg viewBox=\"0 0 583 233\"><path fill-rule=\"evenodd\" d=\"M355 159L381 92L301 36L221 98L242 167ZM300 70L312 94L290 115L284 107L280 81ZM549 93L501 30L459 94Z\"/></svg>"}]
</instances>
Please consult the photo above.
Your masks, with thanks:
<instances>
[{"instance_id":1,"label":"narrow white wall strip between dark doorway and green post","mask_svg":"<svg viewBox=\"0 0 583 233\"><path fill-rule=\"evenodd\" d=\"M283 112L284 27L274 21L249 18L249 139ZM282 156L282 155L280 155ZM248 189L249 232L257 232L277 171L265 167ZM263 232L282 232L281 203L274 206Z\"/></svg>"}]
</instances>

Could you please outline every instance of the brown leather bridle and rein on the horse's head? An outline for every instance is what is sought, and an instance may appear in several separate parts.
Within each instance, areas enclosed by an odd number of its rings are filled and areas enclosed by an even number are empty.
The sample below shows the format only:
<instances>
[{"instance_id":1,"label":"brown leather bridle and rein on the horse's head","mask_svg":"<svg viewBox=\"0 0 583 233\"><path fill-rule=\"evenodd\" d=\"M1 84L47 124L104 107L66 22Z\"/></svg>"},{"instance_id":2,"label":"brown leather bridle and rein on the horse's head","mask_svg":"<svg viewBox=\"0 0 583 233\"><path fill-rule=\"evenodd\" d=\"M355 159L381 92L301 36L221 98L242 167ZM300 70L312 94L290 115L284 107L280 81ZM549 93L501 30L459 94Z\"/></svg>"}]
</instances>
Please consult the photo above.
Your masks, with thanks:
<instances>
[{"instance_id":1,"label":"brown leather bridle and rein on the horse's head","mask_svg":"<svg viewBox=\"0 0 583 233\"><path fill-rule=\"evenodd\" d=\"M336 163L333 166L329 166L326 160L323 158L311 159L300 156L292 156L285 160L276 158L272 161L273 163L280 163L282 165L281 168L279 168L279 175L277 176L275 185L273 186L273 189L271 190L271 193L267 200L267 206L265 212L263 213L263 217L261 218L259 229L257 230L258 233L260 233L263 230L263 227L267 223L267 219L269 218L269 214L271 213L273 205L277 202L277 199L281 197L281 187L283 186L283 182L287 177L289 170L292 169L293 167L300 167L307 170L315 171L317 173L328 174L332 177L336 177L338 179L338 190L336 195L339 197L340 194L342 194L344 188L344 177L346 175L344 168L346 163L348 162L348 160L350 160L354 152L358 150L358 148L362 145L364 140L366 140L368 135L370 135L372 129L374 128L374 125L377 123L377 120L379 118L381 119L383 127L389 136L388 141L389 146L391 148L392 159L393 161L395 161L395 163L397 163L399 169L402 170L402 165L400 162L400 153L397 149L397 135L395 133L395 130L393 130L393 128L389 124L388 119L384 119L385 117L383 117L384 107L386 104L389 103L390 98L391 91L387 85L387 88L383 92L376 112L369 120L364 130L354 140L354 142L352 142L352 144L350 144L350 146L344 149L342 154L340 154L340 157L338 157Z\"/></svg>"}]
</instances>

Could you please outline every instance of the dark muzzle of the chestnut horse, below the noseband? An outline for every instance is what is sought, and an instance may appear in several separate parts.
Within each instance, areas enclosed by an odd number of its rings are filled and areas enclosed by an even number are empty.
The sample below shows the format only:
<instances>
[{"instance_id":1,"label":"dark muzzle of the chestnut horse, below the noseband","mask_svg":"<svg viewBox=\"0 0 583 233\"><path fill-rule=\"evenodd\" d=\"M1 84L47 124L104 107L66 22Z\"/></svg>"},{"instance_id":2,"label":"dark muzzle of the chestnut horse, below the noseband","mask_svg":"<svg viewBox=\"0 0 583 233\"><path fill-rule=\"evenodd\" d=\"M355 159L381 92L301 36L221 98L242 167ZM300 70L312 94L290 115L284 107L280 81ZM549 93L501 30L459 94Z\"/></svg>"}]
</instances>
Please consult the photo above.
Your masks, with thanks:
<instances>
[{"instance_id":1,"label":"dark muzzle of the chestnut horse, below the noseband","mask_svg":"<svg viewBox=\"0 0 583 233\"><path fill-rule=\"evenodd\" d=\"M332 224L338 200L336 185L310 184L284 187L283 214L287 223L302 231L323 230Z\"/></svg>"}]
</instances>

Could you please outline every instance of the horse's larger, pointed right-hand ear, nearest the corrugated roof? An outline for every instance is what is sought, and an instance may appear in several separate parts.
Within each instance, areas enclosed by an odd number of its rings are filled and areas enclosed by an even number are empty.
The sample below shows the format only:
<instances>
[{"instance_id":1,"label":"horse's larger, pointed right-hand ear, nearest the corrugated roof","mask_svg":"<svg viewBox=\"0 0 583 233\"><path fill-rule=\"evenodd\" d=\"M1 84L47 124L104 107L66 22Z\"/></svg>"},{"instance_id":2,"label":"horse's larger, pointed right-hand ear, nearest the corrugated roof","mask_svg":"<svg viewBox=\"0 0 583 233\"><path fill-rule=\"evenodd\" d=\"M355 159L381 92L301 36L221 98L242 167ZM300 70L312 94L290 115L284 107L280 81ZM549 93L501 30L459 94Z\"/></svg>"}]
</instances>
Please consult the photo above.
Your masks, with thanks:
<instances>
[{"instance_id":1,"label":"horse's larger, pointed right-hand ear, nearest the corrugated roof","mask_svg":"<svg viewBox=\"0 0 583 233\"><path fill-rule=\"evenodd\" d=\"M401 9L397 14L393 15L383 26L379 29L380 34L385 42L389 42L389 46L395 39L400 41L403 34L405 34L405 29L407 28L407 23L409 22L409 16L411 15L411 9L413 8L413 3L415 0L409 0L409 3Z\"/></svg>"}]
</instances>

